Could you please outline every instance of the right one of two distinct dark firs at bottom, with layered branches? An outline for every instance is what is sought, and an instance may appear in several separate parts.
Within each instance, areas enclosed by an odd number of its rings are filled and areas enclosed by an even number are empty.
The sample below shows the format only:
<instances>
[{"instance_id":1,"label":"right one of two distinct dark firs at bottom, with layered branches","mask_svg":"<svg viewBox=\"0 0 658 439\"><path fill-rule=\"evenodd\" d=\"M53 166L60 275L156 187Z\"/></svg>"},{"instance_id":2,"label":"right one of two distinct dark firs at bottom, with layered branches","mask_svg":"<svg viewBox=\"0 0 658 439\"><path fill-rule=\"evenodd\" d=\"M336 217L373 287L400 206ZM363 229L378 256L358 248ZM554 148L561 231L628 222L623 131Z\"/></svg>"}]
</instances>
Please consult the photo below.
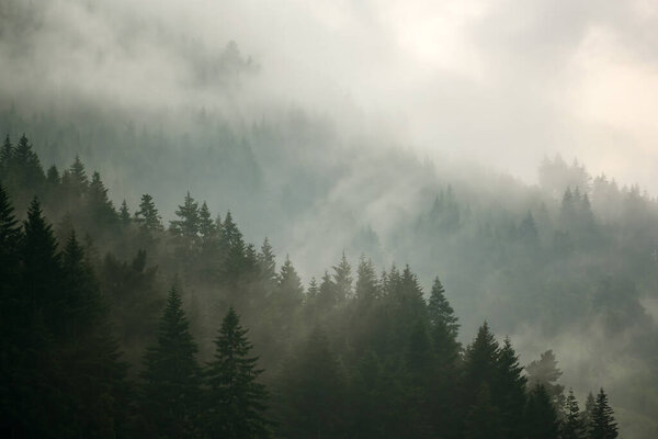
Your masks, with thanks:
<instances>
[{"instance_id":1,"label":"right one of two distinct dark firs at bottom, with layered branches","mask_svg":"<svg viewBox=\"0 0 658 439\"><path fill-rule=\"evenodd\" d=\"M208 364L204 412L206 435L226 439L268 438L270 423L264 416L268 392L258 382L262 370L247 329L229 308L215 339L215 359Z\"/></svg>"}]
</instances>

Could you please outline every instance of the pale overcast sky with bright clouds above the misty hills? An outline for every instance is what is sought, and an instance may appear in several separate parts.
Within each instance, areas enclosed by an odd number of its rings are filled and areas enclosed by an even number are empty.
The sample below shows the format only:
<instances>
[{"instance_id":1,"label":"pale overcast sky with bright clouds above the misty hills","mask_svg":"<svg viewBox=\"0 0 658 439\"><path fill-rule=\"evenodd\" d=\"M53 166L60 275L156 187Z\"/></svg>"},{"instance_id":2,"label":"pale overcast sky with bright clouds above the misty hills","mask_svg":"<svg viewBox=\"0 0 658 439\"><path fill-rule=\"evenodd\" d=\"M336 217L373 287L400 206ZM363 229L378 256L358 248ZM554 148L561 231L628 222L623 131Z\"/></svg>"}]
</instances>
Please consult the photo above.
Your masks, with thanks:
<instances>
[{"instance_id":1,"label":"pale overcast sky with bright clouds above the misty hills","mask_svg":"<svg viewBox=\"0 0 658 439\"><path fill-rule=\"evenodd\" d=\"M20 1L0 3L2 19ZM272 101L386 127L432 158L476 159L533 181L541 158L560 153L658 194L651 0L33 4L47 4L39 32L22 46L19 31L0 41L5 97L75 90L122 104L197 101L171 42L150 25L137 36L126 25L156 22L211 50L237 41L262 66L253 89Z\"/></svg>"}]
</instances>

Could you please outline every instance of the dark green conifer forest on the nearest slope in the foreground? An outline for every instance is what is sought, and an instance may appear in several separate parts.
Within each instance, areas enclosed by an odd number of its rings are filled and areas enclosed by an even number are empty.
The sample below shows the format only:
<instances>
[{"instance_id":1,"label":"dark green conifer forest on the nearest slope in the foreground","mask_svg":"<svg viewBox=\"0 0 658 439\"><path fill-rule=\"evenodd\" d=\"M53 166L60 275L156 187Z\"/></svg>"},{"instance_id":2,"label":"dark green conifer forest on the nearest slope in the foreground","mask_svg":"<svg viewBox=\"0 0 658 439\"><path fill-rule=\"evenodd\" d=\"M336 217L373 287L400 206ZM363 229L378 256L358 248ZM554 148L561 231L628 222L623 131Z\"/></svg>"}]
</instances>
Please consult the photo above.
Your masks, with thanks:
<instances>
[{"instance_id":1,"label":"dark green conifer forest on the nearest slope in the foreground","mask_svg":"<svg viewBox=\"0 0 658 439\"><path fill-rule=\"evenodd\" d=\"M463 346L439 278L343 254L304 286L190 192L166 225L79 158L44 170L25 135L0 153L5 437L617 437L606 392L579 404L552 350L523 367L487 322ZM561 203L593 221L587 194ZM540 245L532 214L515 233Z\"/></svg>"}]
</instances>

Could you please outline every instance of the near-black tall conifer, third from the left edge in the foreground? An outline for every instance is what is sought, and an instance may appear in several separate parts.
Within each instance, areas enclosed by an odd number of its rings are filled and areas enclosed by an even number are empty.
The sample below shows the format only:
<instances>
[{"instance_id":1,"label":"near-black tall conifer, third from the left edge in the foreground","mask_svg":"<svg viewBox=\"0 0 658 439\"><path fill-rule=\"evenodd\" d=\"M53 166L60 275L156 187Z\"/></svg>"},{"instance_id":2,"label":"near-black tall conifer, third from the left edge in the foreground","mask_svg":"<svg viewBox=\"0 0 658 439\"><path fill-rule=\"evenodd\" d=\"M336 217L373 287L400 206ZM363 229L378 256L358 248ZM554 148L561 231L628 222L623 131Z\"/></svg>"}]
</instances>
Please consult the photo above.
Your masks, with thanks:
<instances>
[{"instance_id":1,"label":"near-black tall conifer, third from the left edge in the foreground","mask_svg":"<svg viewBox=\"0 0 658 439\"><path fill-rule=\"evenodd\" d=\"M121 437L128 420L127 367L120 361L87 260L72 233L63 252L64 331L55 357L58 367L53 368L53 381L72 401L59 420L72 426L77 437Z\"/></svg>"}]
</instances>

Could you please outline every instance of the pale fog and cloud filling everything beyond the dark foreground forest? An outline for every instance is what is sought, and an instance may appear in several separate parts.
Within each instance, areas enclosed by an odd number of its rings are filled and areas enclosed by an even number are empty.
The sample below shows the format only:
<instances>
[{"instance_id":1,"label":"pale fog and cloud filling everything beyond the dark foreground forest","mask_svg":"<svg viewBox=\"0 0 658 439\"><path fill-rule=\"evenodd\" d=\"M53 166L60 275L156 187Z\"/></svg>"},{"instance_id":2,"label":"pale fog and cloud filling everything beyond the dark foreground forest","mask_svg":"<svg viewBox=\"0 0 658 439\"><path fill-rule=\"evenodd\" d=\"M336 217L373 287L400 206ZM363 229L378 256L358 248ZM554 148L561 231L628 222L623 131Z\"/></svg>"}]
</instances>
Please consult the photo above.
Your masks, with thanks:
<instances>
[{"instance_id":1,"label":"pale fog and cloud filling everything beyond the dark foreground forest","mask_svg":"<svg viewBox=\"0 0 658 439\"><path fill-rule=\"evenodd\" d=\"M342 251L411 264L426 294L440 275L464 344L487 318L523 363L553 349L580 398L611 387L625 437L656 431L637 394L658 384L655 2L0 0L0 135L46 167L80 155L115 205L151 193L168 224L190 190L230 210L305 285ZM556 155L559 182L538 172ZM591 236L560 205L579 183ZM435 234L453 190L458 227ZM544 248L501 250L531 211ZM554 249L564 229L582 251ZM611 286L622 311L605 275L635 282ZM523 314L552 288L589 294L582 312Z\"/></svg>"}]
</instances>

